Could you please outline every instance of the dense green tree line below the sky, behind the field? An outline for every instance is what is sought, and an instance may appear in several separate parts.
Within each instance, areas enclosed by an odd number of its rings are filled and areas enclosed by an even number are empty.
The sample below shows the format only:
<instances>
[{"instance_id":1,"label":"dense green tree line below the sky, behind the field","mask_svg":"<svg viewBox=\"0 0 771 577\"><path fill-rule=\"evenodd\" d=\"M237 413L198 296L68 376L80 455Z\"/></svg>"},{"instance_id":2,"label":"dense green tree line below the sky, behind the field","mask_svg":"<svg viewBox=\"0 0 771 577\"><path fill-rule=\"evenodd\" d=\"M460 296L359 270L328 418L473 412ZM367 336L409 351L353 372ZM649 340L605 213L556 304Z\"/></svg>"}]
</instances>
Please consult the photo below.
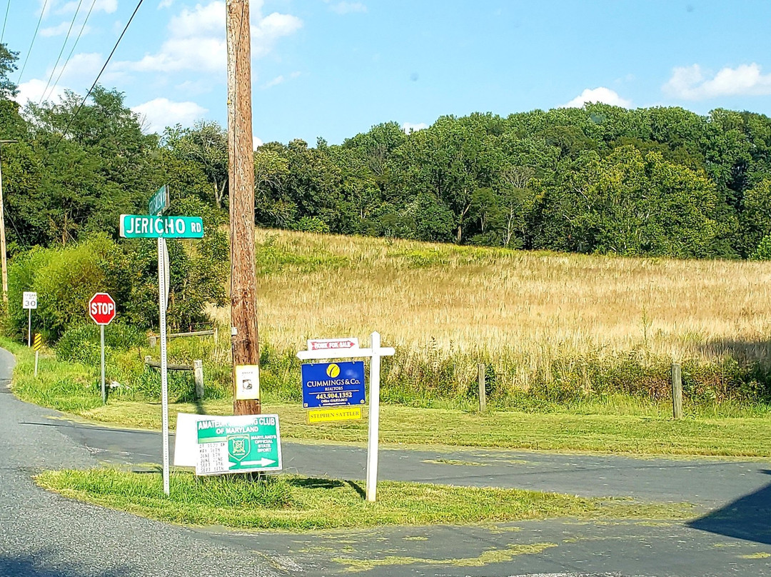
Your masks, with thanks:
<instances>
[{"instance_id":1,"label":"dense green tree line below the sky, behind the field","mask_svg":"<svg viewBox=\"0 0 771 577\"><path fill-rule=\"evenodd\" d=\"M85 106L12 100L0 45L3 194L13 255L116 237L160 184L171 206L226 214L227 133L214 122L143 132L123 93ZM75 111L79 113L75 116ZM771 253L771 119L607 104L388 122L342 144L254 153L255 224L508 248L678 258ZM186 204L186 206L189 205ZM765 239L765 241L764 241Z\"/></svg>"}]
</instances>

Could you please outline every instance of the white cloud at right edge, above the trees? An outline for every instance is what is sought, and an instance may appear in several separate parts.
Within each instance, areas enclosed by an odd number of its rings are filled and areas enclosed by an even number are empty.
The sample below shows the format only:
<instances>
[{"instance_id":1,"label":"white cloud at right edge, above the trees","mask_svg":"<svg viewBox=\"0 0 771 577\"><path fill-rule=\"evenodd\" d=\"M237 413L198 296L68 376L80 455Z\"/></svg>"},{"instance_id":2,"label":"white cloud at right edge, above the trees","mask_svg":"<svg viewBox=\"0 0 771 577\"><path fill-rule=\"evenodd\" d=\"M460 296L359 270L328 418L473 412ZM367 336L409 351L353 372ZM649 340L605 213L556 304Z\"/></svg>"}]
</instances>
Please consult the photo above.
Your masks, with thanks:
<instances>
[{"instance_id":1,"label":"white cloud at right edge, above the trees","mask_svg":"<svg viewBox=\"0 0 771 577\"><path fill-rule=\"evenodd\" d=\"M698 64L672 69L672 77L662 86L668 96L683 100L705 100L716 96L762 96L771 94L771 74L761 67L742 64L721 69L712 78Z\"/></svg>"}]
</instances>

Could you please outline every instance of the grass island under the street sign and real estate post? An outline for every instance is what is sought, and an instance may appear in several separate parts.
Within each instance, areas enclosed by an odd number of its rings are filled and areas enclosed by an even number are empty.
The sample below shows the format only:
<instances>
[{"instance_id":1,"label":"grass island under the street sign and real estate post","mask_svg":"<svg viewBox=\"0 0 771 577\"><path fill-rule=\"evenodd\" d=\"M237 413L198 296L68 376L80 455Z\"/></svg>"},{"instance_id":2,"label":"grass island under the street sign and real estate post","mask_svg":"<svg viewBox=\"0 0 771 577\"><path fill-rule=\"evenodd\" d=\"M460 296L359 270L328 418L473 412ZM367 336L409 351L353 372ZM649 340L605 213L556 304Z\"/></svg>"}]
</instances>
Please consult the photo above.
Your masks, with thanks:
<instances>
[{"instance_id":1,"label":"grass island under the street sign and real estate post","mask_svg":"<svg viewBox=\"0 0 771 577\"><path fill-rule=\"evenodd\" d=\"M640 504L519 489L460 488L381 481L368 503L351 481L281 475L197 478L173 472L170 496L160 473L116 469L44 471L43 488L66 497L182 525L305 531L383 525L467 525L571 517L690 518L689 504Z\"/></svg>"}]
</instances>

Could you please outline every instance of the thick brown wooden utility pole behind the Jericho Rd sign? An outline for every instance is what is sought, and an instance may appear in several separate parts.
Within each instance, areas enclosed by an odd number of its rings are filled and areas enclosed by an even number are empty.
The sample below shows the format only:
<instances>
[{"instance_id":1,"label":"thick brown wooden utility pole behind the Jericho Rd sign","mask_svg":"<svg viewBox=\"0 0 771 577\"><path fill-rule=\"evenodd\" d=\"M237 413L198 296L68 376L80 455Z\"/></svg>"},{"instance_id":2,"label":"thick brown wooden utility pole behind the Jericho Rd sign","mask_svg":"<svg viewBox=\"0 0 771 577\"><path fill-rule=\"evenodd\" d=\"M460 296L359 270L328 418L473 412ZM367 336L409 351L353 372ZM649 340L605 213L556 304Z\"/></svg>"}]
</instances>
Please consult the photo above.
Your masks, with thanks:
<instances>
[{"instance_id":1,"label":"thick brown wooden utility pole behind the Jericho Rd sign","mask_svg":"<svg viewBox=\"0 0 771 577\"><path fill-rule=\"evenodd\" d=\"M235 368L258 365L254 274L254 148L251 133L249 0L227 0L227 147L231 206L231 349L233 413L261 412L260 400L236 398Z\"/></svg>"}]
</instances>

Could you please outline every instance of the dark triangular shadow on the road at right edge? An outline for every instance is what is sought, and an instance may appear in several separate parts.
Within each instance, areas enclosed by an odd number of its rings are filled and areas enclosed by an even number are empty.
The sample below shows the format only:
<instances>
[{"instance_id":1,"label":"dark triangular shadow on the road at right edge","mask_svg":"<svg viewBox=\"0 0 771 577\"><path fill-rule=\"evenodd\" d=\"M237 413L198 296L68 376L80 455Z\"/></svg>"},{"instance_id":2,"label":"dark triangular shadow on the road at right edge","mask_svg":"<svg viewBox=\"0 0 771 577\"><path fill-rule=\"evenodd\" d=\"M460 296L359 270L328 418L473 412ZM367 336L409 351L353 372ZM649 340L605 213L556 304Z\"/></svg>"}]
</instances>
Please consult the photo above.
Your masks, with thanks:
<instances>
[{"instance_id":1,"label":"dark triangular shadow on the road at right edge","mask_svg":"<svg viewBox=\"0 0 771 577\"><path fill-rule=\"evenodd\" d=\"M771 474L771 471L762 471ZM691 521L689 527L771 545L771 483Z\"/></svg>"}]
</instances>

